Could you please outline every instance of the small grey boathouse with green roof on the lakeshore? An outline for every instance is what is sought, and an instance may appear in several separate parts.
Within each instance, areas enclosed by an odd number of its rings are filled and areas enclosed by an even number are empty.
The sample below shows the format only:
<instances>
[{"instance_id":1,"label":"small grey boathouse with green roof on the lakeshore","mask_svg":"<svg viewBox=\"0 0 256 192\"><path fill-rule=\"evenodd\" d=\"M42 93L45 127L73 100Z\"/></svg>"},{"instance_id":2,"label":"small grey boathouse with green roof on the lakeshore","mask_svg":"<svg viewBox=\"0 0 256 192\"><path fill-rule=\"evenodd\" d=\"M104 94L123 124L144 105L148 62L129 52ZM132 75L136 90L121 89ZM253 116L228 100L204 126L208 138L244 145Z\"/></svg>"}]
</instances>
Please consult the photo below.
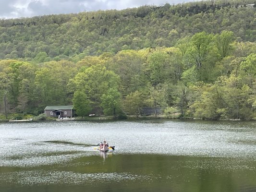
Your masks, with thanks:
<instances>
[{"instance_id":1,"label":"small grey boathouse with green roof on the lakeshore","mask_svg":"<svg viewBox=\"0 0 256 192\"><path fill-rule=\"evenodd\" d=\"M47 117L57 117L61 119L63 117L73 117L74 111L72 105L46 106L45 114Z\"/></svg>"}]
</instances>

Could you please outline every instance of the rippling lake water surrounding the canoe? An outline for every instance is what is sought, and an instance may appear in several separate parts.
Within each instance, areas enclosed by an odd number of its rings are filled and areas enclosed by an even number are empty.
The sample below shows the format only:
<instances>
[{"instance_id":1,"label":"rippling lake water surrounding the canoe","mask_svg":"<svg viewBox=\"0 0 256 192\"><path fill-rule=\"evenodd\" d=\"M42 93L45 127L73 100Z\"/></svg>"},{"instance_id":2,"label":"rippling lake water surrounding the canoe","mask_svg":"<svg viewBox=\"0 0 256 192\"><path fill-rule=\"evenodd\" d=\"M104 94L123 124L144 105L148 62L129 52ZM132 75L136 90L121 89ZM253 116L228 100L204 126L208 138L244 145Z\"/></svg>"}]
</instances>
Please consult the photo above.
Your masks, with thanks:
<instances>
[{"instance_id":1,"label":"rippling lake water surrounding the canoe","mask_svg":"<svg viewBox=\"0 0 256 192\"><path fill-rule=\"evenodd\" d=\"M256 122L0 123L0 192L121 191L256 192Z\"/></svg>"}]
</instances>

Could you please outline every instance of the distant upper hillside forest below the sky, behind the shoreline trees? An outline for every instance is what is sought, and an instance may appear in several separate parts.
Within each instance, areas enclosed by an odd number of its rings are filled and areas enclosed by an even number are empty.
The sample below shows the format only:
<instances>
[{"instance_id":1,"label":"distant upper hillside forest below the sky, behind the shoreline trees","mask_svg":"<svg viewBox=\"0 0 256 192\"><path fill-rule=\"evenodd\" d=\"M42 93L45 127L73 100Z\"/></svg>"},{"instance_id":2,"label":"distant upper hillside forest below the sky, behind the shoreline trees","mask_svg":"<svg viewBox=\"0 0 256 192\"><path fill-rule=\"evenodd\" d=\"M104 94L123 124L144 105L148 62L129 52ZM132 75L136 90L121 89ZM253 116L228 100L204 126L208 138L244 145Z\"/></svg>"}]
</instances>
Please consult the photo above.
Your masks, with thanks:
<instances>
[{"instance_id":1,"label":"distant upper hillside forest below the sky, behind the shoreline trees","mask_svg":"<svg viewBox=\"0 0 256 192\"><path fill-rule=\"evenodd\" d=\"M181 37L205 31L232 31L234 37L255 41L255 8L237 1L197 1L177 5L142 6L126 10L81 12L2 19L0 59L34 62L70 59L104 52L171 47ZM241 5L243 5L241 7ZM224 49L222 49L224 50ZM225 52L220 53L222 57Z\"/></svg>"}]
</instances>

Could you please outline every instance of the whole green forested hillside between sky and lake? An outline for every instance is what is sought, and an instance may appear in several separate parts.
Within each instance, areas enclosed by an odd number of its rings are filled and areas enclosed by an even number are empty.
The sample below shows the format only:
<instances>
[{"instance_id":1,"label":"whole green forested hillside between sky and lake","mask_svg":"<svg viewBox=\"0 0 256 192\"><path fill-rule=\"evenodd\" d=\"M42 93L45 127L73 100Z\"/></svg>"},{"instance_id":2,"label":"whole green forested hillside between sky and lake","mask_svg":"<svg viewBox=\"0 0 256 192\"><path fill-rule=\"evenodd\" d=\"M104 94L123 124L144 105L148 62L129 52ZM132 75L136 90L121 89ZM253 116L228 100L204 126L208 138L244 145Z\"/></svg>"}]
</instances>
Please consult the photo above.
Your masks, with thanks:
<instances>
[{"instance_id":1,"label":"whole green forested hillside between sky and lake","mask_svg":"<svg viewBox=\"0 0 256 192\"><path fill-rule=\"evenodd\" d=\"M256 5L200 1L0 20L0 112L144 107L256 119Z\"/></svg>"}]
</instances>

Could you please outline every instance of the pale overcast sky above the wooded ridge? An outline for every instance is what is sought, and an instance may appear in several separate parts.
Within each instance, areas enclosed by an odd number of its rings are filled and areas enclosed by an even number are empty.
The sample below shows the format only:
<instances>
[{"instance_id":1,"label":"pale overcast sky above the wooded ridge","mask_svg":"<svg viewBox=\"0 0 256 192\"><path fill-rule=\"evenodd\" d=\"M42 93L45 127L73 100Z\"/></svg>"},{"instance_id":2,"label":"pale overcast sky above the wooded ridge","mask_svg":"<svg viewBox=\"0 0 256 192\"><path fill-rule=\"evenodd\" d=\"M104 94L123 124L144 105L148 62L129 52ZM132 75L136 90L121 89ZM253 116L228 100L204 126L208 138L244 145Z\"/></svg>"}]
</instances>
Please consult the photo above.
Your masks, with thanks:
<instances>
[{"instance_id":1,"label":"pale overcast sky above the wooded ridge","mask_svg":"<svg viewBox=\"0 0 256 192\"><path fill-rule=\"evenodd\" d=\"M192 0L0 0L0 18L32 17L97 10L122 10L142 5L178 4Z\"/></svg>"}]
</instances>

